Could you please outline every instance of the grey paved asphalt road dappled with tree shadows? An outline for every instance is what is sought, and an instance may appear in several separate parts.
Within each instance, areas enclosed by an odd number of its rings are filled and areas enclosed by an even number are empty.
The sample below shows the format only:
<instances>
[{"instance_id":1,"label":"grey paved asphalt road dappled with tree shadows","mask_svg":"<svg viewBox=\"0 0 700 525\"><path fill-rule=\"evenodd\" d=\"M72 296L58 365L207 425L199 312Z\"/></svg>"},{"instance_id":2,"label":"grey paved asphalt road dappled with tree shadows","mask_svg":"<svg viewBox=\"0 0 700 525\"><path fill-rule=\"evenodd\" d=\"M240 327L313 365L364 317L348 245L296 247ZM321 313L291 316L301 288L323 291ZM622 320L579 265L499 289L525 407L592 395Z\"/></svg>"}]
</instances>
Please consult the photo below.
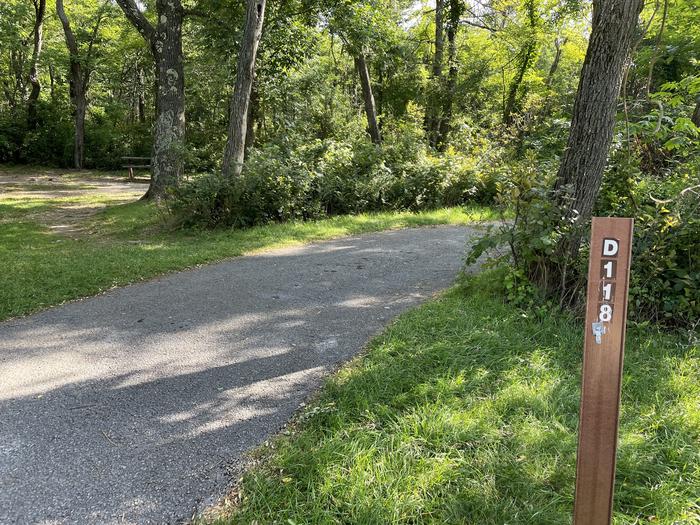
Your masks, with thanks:
<instances>
[{"instance_id":1,"label":"grey paved asphalt road dappled with tree shadows","mask_svg":"<svg viewBox=\"0 0 700 525\"><path fill-rule=\"evenodd\" d=\"M0 523L177 523L328 371L445 288L470 230L241 257L0 323Z\"/></svg>"}]
</instances>

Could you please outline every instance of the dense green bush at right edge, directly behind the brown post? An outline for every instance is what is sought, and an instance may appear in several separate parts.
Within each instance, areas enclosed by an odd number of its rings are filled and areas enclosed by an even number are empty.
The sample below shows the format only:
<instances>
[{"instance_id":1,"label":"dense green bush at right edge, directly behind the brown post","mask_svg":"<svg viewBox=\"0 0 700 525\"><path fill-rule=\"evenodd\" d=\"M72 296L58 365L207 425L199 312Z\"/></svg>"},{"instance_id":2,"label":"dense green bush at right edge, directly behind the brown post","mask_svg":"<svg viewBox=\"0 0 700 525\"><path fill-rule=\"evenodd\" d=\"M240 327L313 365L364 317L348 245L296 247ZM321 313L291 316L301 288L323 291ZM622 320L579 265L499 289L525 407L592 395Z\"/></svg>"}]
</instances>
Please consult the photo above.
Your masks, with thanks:
<instances>
[{"instance_id":1,"label":"dense green bush at right edge, directly behind the brown post","mask_svg":"<svg viewBox=\"0 0 700 525\"><path fill-rule=\"evenodd\" d=\"M635 218L630 312L697 327L700 319L700 130L687 117L700 78L670 82L630 124L612 157L597 213Z\"/></svg>"}]
</instances>

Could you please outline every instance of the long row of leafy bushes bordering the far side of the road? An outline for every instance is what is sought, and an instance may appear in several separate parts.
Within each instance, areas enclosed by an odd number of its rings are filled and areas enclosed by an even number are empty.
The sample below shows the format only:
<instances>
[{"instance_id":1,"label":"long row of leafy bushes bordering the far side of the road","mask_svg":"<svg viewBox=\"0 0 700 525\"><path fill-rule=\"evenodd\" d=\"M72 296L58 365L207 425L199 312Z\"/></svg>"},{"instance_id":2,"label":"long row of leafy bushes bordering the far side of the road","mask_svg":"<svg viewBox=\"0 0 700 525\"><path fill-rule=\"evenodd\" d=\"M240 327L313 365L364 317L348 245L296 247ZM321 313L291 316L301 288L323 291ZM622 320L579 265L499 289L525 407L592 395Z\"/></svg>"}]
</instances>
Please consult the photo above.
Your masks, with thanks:
<instances>
[{"instance_id":1,"label":"long row of leafy bushes bordering the far side of the road","mask_svg":"<svg viewBox=\"0 0 700 525\"><path fill-rule=\"evenodd\" d=\"M419 128L389 130L381 146L364 134L346 141L280 141L251 150L239 180L192 178L169 207L183 224L211 227L455 206L493 191L495 184L474 164L454 151L434 156Z\"/></svg>"}]
</instances>

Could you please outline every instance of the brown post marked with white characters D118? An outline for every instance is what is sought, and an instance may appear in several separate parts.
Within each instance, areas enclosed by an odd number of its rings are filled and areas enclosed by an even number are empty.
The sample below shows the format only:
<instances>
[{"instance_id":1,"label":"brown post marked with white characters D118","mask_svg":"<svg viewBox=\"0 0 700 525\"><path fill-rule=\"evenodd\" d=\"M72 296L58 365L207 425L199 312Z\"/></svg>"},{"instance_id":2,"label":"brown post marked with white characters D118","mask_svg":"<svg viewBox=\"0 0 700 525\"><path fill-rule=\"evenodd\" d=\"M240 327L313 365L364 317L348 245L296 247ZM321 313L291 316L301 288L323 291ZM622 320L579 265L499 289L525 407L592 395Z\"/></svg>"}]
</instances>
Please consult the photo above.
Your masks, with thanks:
<instances>
[{"instance_id":1,"label":"brown post marked with white characters D118","mask_svg":"<svg viewBox=\"0 0 700 525\"><path fill-rule=\"evenodd\" d=\"M591 227L574 525L612 517L633 225L594 217Z\"/></svg>"}]
</instances>

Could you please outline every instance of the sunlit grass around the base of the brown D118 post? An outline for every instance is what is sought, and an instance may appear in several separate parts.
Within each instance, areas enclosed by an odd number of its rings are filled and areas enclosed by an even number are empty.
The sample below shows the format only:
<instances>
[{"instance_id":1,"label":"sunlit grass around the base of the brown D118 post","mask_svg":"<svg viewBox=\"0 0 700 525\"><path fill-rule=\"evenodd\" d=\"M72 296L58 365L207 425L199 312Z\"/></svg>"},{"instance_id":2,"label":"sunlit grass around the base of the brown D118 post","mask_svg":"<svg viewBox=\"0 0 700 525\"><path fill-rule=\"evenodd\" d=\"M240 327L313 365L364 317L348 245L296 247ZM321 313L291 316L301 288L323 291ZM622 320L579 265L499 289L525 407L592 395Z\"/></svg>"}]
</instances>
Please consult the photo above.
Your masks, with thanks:
<instances>
[{"instance_id":1,"label":"sunlit grass around the base of the brown D118 post","mask_svg":"<svg viewBox=\"0 0 700 525\"><path fill-rule=\"evenodd\" d=\"M257 452L233 523L571 522L580 322L493 274L403 315ZM631 327L614 523L700 523L700 347Z\"/></svg>"}]
</instances>

